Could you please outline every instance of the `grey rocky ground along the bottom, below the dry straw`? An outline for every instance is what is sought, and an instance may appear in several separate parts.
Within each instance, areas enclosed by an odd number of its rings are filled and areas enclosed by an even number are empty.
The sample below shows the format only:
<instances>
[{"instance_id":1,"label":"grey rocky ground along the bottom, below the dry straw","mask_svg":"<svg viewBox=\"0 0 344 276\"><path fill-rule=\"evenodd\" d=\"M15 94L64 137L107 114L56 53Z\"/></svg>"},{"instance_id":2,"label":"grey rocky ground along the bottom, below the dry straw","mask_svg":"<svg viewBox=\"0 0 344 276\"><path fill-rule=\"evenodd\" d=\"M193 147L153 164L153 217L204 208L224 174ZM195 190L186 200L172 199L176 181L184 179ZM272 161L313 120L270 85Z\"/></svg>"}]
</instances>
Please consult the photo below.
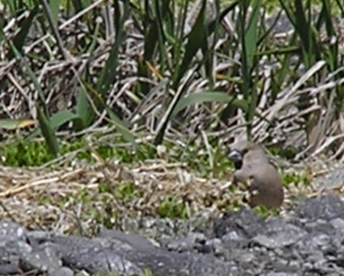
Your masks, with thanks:
<instances>
[{"instance_id":1,"label":"grey rocky ground along the bottom, below the dry straw","mask_svg":"<svg viewBox=\"0 0 344 276\"><path fill-rule=\"evenodd\" d=\"M207 231L159 246L116 230L88 239L2 221L0 233L1 275L143 275L146 268L153 275L344 275L344 203L334 195L267 220L251 209L227 213Z\"/></svg>"}]
</instances>

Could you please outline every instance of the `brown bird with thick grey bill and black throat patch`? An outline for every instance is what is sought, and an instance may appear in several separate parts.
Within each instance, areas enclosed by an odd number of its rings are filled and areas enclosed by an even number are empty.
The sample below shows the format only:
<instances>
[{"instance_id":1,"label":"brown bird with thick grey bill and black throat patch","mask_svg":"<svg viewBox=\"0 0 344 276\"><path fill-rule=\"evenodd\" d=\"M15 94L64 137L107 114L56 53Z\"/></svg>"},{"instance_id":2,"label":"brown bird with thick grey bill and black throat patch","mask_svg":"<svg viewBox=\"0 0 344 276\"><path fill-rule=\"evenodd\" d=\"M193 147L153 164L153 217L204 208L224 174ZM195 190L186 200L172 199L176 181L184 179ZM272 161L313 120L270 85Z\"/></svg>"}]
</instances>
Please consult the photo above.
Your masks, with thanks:
<instances>
[{"instance_id":1,"label":"brown bird with thick grey bill and black throat patch","mask_svg":"<svg viewBox=\"0 0 344 276\"><path fill-rule=\"evenodd\" d=\"M249 192L251 207L280 207L284 192L281 176L258 144L239 141L232 147L228 158L234 162L236 172L233 184L244 184Z\"/></svg>"}]
</instances>

